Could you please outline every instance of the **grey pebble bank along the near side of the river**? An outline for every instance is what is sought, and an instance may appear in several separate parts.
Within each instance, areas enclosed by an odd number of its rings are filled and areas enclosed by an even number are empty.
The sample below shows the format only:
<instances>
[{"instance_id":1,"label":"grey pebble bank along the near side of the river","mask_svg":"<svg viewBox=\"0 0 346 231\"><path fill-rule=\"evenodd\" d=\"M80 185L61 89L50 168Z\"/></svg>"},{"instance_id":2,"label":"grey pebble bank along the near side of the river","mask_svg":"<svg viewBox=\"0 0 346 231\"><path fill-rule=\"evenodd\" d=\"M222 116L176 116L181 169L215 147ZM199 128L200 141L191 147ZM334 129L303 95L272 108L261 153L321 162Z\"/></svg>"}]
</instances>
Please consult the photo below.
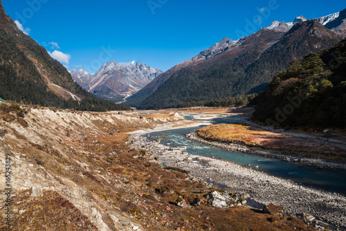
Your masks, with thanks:
<instances>
[{"instance_id":1,"label":"grey pebble bank along the near side of the river","mask_svg":"<svg viewBox=\"0 0 346 231\"><path fill-rule=\"evenodd\" d=\"M188 172L192 181L219 183L232 188L233 192L246 192L257 203L284 206L289 214L311 214L316 217L311 223L317 228L346 229L345 196L304 187L228 160L191 155L184 148L167 147L159 141L147 140L145 133L154 131L156 129L137 131L129 139L132 148L147 150L147 158L153 162L182 169Z\"/></svg>"}]
</instances>

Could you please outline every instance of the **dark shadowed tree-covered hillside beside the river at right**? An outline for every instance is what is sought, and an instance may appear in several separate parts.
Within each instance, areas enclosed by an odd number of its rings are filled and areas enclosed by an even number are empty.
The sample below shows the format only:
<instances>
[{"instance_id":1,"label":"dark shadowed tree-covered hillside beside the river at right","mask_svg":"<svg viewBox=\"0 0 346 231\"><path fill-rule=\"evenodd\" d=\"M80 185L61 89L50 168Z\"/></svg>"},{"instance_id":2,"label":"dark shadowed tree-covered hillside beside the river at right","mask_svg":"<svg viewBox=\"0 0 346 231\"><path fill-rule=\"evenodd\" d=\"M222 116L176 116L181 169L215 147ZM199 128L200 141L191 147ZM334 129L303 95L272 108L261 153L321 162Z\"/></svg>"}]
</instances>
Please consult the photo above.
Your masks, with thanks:
<instances>
[{"instance_id":1,"label":"dark shadowed tree-covered hillside beside the river at right","mask_svg":"<svg viewBox=\"0 0 346 231\"><path fill-rule=\"evenodd\" d=\"M275 126L346 126L346 39L277 72L254 119Z\"/></svg>"}]
</instances>

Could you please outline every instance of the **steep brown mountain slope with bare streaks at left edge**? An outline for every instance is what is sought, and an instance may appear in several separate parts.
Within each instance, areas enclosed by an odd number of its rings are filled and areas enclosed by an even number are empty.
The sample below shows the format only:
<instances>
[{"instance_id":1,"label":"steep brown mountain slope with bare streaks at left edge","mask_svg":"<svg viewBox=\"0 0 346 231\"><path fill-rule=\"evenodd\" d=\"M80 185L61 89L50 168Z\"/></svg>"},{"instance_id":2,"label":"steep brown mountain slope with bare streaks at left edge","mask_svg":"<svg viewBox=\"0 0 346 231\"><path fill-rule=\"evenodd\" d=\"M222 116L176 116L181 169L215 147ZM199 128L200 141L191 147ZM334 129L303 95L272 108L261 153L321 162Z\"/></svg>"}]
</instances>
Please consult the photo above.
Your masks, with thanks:
<instances>
[{"instance_id":1,"label":"steep brown mountain slope with bare streaks at left edge","mask_svg":"<svg viewBox=\"0 0 346 231\"><path fill-rule=\"evenodd\" d=\"M0 97L6 100L75 109L126 109L95 98L73 82L45 48L25 35L0 1Z\"/></svg>"}]
</instances>

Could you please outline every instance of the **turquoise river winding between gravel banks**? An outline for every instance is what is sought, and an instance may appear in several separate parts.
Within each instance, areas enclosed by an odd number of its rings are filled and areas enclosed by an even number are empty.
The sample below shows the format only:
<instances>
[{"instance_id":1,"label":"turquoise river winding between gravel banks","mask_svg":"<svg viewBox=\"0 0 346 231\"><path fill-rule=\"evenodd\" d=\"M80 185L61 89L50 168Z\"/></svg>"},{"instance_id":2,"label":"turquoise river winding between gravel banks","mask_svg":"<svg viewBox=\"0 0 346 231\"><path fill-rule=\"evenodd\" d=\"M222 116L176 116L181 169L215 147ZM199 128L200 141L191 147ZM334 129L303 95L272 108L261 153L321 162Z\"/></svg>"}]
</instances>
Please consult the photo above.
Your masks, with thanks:
<instances>
[{"instance_id":1,"label":"turquoise river winding between gravel banks","mask_svg":"<svg viewBox=\"0 0 346 231\"><path fill-rule=\"evenodd\" d=\"M215 123L220 122L232 121L215 121ZM290 179L295 183L346 195L345 170L318 169L316 167L304 165L303 163L291 163L260 155L244 154L238 151L227 151L226 149L202 144L185 137L186 134L199 128L201 127L158 131L147 134L147 138L160 140L163 145L171 147L188 147L186 151L190 154L224 158L246 167L255 168L258 166L258 171L266 172L272 176Z\"/></svg>"}]
</instances>

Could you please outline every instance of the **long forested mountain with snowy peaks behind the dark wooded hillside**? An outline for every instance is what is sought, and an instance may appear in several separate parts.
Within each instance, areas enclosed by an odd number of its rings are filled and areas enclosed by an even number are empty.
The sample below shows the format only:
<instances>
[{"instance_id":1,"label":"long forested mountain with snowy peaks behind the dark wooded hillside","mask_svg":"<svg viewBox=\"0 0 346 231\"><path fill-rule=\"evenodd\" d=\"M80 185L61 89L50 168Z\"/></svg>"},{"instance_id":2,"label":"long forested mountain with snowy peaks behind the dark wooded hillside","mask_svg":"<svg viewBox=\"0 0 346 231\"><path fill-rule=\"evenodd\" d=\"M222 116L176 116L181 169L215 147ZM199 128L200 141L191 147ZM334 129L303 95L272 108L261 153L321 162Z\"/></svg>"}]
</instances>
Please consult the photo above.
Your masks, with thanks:
<instances>
[{"instance_id":1,"label":"long forested mountain with snowy peaks behind the dark wooded hillside","mask_svg":"<svg viewBox=\"0 0 346 231\"><path fill-rule=\"evenodd\" d=\"M177 107L264 91L277 71L293 59L334 46L346 36L346 9L315 20L303 16L237 41L224 38L188 61L159 75L125 104L139 109Z\"/></svg>"}]
</instances>

